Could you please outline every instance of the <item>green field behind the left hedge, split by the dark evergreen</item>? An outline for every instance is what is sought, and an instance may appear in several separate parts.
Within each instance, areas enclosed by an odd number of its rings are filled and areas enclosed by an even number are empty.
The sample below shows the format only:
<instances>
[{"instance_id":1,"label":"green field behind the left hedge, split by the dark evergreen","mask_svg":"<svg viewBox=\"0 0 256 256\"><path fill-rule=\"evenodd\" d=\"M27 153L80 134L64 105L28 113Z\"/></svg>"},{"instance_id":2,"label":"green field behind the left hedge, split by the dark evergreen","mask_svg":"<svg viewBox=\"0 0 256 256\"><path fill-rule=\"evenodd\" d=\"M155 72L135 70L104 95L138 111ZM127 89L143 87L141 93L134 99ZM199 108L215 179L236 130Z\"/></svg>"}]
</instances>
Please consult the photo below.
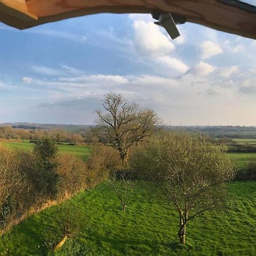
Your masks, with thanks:
<instances>
[{"instance_id":1,"label":"green field behind the left hedge, split by the dark evergreen","mask_svg":"<svg viewBox=\"0 0 256 256\"><path fill-rule=\"evenodd\" d=\"M15 140L4 140L0 141L5 143L10 148L18 148L24 151L32 150L34 144L29 141L15 141ZM90 146L72 146L72 145L58 145L60 154L75 154L81 156L83 159L86 159L86 156L90 154Z\"/></svg>"}]
</instances>

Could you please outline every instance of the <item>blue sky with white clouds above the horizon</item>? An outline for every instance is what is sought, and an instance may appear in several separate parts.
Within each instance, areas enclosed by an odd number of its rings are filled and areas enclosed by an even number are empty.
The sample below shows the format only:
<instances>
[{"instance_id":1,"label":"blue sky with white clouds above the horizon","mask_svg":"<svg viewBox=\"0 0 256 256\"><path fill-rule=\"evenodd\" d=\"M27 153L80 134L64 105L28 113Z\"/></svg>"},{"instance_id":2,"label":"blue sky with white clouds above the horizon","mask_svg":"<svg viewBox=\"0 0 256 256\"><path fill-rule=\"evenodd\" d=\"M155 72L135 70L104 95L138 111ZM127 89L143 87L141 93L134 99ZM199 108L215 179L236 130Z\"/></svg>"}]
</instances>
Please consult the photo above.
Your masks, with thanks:
<instances>
[{"instance_id":1,"label":"blue sky with white clouds above the horizon","mask_svg":"<svg viewBox=\"0 0 256 256\"><path fill-rule=\"evenodd\" d=\"M0 23L0 122L92 125L115 92L167 125L256 126L256 40L179 30L172 40L147 14Z\"/></svg>"}]
</instances>

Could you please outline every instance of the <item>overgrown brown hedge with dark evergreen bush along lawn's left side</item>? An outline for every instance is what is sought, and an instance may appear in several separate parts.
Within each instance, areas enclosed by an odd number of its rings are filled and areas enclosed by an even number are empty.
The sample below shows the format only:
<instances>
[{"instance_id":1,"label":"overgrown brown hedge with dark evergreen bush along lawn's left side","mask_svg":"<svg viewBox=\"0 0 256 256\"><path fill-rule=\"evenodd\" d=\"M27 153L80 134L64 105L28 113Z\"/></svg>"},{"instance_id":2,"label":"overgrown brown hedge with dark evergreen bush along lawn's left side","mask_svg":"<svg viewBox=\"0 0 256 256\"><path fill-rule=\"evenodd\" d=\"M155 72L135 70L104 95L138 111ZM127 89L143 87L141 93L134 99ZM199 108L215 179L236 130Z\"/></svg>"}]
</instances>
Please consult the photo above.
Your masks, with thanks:
<instances>
[{"instance_id":1,"label":"overgrown brown hedge with dark evergreen bush along lawn's left side","mask_svg":"<svg viewBox=\"0 0 256 256\"><path fill-rule=\"evenodd\" d=\"M122 166L117 150L95 147L85 163L75 155L56 155L55 142L37 141L34 150L10 150L0 144L0 229L10 221L108 179Z\"/></svg>"}]
</instances>

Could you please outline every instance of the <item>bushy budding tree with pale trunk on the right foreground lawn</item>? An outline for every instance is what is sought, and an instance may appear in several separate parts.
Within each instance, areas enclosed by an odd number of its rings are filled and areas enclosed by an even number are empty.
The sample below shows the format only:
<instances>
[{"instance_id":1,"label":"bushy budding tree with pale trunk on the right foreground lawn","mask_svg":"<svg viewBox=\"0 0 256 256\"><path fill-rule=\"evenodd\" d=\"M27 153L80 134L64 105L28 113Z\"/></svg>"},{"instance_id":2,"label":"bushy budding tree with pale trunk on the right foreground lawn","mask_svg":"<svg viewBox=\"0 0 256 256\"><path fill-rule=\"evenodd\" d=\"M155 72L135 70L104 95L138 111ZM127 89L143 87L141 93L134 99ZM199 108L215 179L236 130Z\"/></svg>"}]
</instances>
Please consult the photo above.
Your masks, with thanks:
<instances>
[{"instance_id":1,"label":"bushy budding tree with pale trunk on the right foreground lawn","mask_svg":"<svg viewBox=\"0 0 256 256\"><path fill-rule=\"evenodd\" d=\"M234 168L220 148L201 135L172 133L138 148L133 167L150 177L179 213L180 243L189 220L228 201L225 185Z\"/></svg>"}]
</instances>

